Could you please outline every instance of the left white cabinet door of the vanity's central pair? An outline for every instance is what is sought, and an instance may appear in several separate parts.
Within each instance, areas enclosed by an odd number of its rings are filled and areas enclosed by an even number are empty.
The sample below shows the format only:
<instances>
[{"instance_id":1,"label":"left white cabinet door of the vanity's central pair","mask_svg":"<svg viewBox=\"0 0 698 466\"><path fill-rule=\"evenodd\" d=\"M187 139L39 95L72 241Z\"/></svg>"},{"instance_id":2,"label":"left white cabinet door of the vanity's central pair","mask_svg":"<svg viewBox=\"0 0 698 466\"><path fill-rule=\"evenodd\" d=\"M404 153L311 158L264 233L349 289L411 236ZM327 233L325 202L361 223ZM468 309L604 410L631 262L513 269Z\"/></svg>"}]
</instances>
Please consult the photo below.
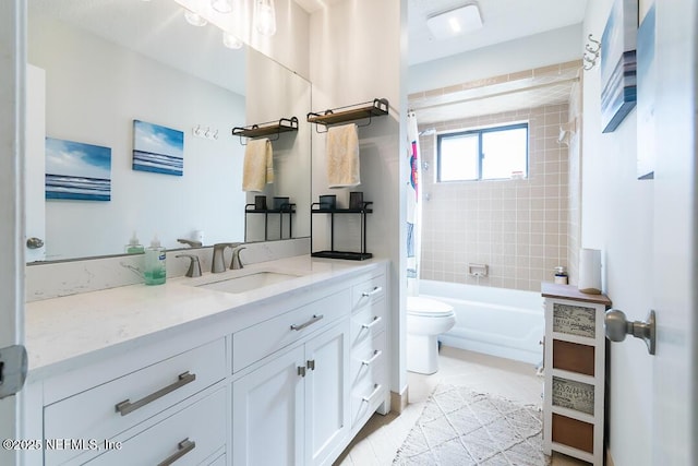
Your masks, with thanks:
<instances>
[{"instance_id":1,"label":"left white cabinet door of the vanity's central pair","mask_svg":"<svg viewBox=\"0 0 698 466\"><path fill-rule=\"evenodd\" d=\"M232 383L232 464L302 465L302 346Z\"/></svg>"}]
</instances>

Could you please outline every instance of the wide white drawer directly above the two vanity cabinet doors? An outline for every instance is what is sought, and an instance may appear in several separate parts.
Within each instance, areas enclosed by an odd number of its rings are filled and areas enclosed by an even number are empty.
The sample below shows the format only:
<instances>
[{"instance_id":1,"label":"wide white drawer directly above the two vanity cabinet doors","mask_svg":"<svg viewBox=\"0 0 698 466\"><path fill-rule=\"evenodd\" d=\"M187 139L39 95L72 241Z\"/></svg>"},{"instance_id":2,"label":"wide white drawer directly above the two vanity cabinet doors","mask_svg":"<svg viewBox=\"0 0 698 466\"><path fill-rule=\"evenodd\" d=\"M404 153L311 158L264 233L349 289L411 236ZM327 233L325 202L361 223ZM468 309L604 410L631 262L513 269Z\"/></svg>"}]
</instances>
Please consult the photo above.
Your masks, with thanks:
<instances>
[{"instance_id":1,"label":"wide white drawer directly above the two vanity cabinet doors","mask_svg":"<svg viewBox=\"0 0 698 466\"><path fill-rule=\"evenodd\" d=\"M349 314L350 290L320 299L232 335L232 371L290 345Z\"/></svg>"}]
</instances>

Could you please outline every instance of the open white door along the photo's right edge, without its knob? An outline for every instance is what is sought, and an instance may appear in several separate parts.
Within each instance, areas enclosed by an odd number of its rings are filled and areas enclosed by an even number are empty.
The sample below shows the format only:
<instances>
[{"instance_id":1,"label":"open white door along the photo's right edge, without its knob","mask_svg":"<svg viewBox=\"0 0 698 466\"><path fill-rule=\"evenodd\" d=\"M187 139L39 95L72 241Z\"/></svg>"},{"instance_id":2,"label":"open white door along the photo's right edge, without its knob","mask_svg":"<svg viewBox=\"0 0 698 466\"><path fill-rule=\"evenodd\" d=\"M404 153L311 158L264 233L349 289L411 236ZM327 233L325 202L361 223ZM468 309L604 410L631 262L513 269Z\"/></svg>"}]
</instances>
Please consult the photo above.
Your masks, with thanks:
<instances>
[{"instance_id":1,"label":"open white door along the photo's right edge, without its knob","mask_svg":"<svg viewBox=\"0 0 698 466\"><path fill-rule=\"evenodd\" d=\"M698 461L695 0L657 0L653 465ZM649 379L648 379L649 383ZM640 408L640 407L638 407Z\"/></svg>"}]
</instances>

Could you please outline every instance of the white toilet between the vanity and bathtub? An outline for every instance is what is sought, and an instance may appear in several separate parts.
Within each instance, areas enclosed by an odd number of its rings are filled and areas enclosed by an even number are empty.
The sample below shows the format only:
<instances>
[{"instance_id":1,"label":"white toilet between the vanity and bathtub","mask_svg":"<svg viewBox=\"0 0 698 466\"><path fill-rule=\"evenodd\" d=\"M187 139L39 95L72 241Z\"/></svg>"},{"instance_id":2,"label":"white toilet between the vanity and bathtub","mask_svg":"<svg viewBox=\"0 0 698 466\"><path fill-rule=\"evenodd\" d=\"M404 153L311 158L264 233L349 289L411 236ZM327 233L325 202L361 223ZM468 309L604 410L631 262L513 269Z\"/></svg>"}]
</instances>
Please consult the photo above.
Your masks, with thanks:
<instances>
[{"instance_id":1,"label":"white toilet between the vanity and bathtub","mask_svg":"<svg viewBox=\"0 0 698 466\"><path fill-rule=\"evenodd\" d=\"M456 324L453 306L420 296L407 297L407 370L432 374L438 370L436 337Z\"/></svg>"}]
</instances>

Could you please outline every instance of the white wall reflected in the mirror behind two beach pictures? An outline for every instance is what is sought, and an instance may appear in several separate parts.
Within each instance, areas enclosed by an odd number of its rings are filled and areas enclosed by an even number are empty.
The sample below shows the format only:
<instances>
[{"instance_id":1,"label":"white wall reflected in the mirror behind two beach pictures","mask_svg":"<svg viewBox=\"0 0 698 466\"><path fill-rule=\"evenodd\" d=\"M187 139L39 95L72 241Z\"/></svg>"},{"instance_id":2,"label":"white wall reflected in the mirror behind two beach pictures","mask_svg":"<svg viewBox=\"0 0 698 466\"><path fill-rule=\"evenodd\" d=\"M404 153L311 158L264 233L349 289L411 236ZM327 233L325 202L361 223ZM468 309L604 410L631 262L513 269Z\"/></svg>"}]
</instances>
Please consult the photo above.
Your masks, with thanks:
<instances>
[{"instance_id":1,"label":"white wall reflected in the mirror behind two beach pictures","mask_svg":"<svg viewBox=\"0 0 698 466\"><path fill-rule=\"evenodd\" d=\"M123 252L133 230L167 248L195 229L206 243L243 237L231 215L244 210L243 148L229 131L244 97L50 19L31 20L28 44L46 70L47 136L111 147L111 201L47 202L48 260ZM182 177L131 169L134 119L184 132ZM193 138L196 124L220 138Z\"/></svg>"}]
</instances>

